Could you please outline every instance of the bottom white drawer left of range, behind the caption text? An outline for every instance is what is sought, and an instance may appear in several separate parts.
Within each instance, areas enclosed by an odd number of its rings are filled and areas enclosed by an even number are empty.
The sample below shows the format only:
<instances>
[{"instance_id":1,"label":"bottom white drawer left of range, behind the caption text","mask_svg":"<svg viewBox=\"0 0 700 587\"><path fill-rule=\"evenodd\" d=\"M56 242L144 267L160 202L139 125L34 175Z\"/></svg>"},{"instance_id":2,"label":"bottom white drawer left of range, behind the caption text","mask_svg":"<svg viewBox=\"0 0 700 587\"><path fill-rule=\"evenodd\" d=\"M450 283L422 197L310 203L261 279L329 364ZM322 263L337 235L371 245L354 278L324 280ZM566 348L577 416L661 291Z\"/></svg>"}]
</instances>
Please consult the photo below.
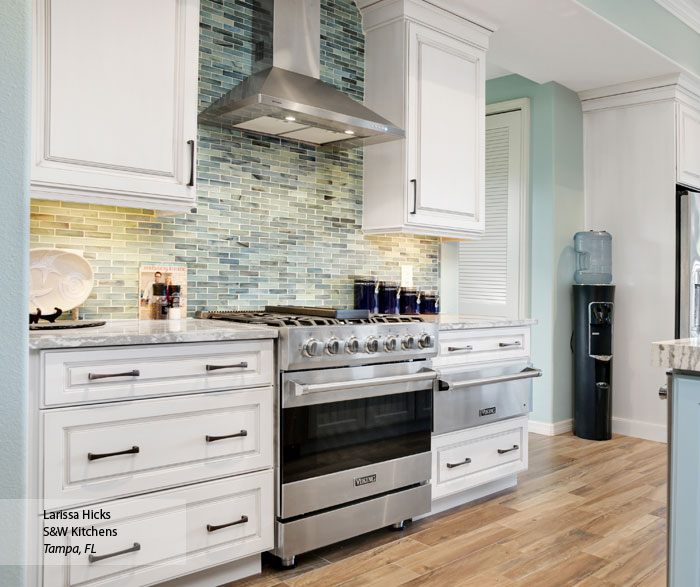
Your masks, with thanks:
<instances>
[{"instance_id":1,"label":"bottom white drawer left of range, behind the caption text","mask_svg":"<svg viewBox=\"0 0 700 587\"><path fill-rule=\"evenodd\" d=\"M85 526L117 534L44 538L80 549L68 556L44 554L44 587L142 587L269 550L274 542L273 482L269 470L91 508L109 514L109 520L44 520L45 527ZM74 511L83 517L84 510ZM98 557L131 552L90 562L87 544L94 545Z\"/></svg>"}]
</instances>

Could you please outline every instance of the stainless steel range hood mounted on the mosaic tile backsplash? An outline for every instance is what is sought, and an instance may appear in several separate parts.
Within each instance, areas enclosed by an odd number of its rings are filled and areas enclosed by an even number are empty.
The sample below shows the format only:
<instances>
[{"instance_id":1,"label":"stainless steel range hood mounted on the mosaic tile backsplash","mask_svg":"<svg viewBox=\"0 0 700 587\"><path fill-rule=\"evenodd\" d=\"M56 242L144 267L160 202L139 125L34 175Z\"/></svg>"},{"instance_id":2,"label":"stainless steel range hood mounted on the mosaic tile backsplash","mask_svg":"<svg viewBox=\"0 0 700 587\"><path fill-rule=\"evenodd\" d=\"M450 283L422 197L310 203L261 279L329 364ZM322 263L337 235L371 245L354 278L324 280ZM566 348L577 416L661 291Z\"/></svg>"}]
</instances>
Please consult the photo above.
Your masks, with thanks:
<instances>
[{"instance_id":1,"label":"stainless steel range hood mounted on the mosaic tile backsplash","mask_svg":"<svg viewBox=\"0 0 700 587\"><path fill-rule=\"evenodd\" d=\"M341 148L405 136L319 79L320 0L262 0L256 16L272 23L272 62L265 39L256 42L259 71L201 112L200 121ZM257 27L268 32L268 44L269 23Z\"/></svg>"}]
</instances>

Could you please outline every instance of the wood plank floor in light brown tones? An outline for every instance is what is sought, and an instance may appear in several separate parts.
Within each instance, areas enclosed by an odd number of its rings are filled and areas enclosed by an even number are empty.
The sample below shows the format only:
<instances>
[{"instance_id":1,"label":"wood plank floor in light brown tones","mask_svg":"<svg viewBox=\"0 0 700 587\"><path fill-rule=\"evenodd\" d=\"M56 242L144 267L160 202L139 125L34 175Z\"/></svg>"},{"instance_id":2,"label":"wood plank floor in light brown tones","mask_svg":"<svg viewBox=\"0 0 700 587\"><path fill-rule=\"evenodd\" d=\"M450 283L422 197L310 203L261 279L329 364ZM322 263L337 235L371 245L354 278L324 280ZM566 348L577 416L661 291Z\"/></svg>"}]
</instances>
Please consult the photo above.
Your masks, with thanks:
<instances>
[{"instance_id":1,"label":"wood plank floor in light brown tones","mask_svg":"<svg viewBox=\"0 0 700 587\"><path fill-rule=\"evenodd\" d=\"M228 587L666 585L666 445L530 434L517 489Z\"/></svg>"}]
</instances>

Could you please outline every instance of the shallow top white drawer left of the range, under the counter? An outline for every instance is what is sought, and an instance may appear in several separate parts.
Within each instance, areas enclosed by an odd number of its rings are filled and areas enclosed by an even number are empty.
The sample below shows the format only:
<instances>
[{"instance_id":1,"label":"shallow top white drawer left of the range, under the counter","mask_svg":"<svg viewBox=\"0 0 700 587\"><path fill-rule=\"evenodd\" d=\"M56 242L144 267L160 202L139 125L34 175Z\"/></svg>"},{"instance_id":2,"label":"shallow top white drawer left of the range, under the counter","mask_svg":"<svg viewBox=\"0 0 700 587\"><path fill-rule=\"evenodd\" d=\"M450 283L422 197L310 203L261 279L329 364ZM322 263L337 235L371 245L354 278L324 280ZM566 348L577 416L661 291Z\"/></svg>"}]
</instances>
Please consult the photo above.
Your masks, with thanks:
<instances>
[{"instance_id":1,"label":"shallow top white drawer left of the range, under the counter","mask_svg":"<svg viewBox=\"0 0 700 587\"><path fill-rule=\"evenodd\" d=\"M272 349L255 340L42 351L43 404L272 385Z\"/></svg>"}]
</instances>

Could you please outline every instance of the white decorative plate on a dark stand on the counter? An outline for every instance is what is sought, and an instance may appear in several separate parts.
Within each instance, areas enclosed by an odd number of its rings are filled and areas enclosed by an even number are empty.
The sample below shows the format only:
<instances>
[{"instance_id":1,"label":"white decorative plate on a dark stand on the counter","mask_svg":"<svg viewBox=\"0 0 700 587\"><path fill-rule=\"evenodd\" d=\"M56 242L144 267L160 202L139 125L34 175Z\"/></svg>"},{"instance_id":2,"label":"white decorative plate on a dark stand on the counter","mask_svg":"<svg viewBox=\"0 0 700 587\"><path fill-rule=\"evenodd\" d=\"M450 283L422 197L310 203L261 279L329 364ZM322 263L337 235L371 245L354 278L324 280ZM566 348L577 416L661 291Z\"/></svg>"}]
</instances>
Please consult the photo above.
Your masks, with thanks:
<instances>
[{"instance_id":1,"label":"white decorative plate on a dark stand on the counter","mask_svg":"<svg viewBox=\"0 0 700 587\"><path fill-rule=\"evenodd\" d=\"M29 251L29 313L53 314L82 304L92 291L94 274L82 255L63 249Z\"/></svg>"}]
</instances>

